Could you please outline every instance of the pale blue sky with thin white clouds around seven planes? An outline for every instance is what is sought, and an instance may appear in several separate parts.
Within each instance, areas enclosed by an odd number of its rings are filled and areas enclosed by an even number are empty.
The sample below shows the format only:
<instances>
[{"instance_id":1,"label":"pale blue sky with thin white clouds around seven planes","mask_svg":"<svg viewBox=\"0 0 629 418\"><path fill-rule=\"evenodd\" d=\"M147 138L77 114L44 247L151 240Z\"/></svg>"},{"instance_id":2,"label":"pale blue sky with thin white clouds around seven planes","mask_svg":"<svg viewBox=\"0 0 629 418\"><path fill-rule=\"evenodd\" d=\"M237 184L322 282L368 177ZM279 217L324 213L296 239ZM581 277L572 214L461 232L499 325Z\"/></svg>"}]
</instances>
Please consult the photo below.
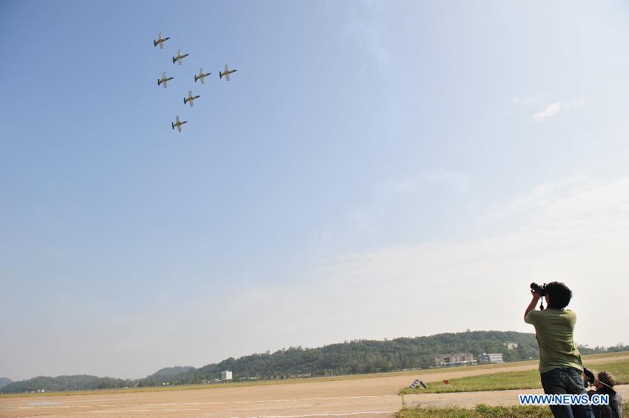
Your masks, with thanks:
<instances>
[{"instance_id":1,"label":"pale blue sky with thin white clouds around seven planes","mask_svg":"<svg viewBox=\"0 0 629 418\"><path fill-rule=\"evenodd\" d=\"M577 343L629 343L628 23L625 1L0 1L0 376L534 332L529 284L554 280Z\"/></svg>"}]
</instances>

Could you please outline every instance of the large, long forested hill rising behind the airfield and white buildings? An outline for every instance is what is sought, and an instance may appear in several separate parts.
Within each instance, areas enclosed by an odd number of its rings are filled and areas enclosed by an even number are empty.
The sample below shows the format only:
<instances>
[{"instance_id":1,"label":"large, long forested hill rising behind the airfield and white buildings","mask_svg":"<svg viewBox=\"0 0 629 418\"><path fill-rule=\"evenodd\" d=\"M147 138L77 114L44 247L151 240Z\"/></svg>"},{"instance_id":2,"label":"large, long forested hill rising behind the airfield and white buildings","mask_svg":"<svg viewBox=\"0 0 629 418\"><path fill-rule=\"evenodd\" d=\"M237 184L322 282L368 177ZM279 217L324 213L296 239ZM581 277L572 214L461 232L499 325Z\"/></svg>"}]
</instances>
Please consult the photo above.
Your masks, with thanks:
<instances>
[{"instance_id":1,"label":"large, long forested hill rising behind the airfield and white buildings","mask_svg":"<svg viewBox=\"0 0 629 418\"><path fill-rule=\"evenodd\" d=\"M516 343L507 349L505 343ZM354 340L318 348L290 347L277 352L251 354L238 359L229 358L198 369L191 368L178 375L155 373L140 380L140 385L161 382L173 384L201 382L220 377L231 370L233 379L282 379L298 375L344 375L376 373L403 368L431 368L435 354L471 352L503 353L505 361L537 359L539 351L533 333L514 331L468 331L443 333L429 337L396 338L394 340Z\"/></svg>"}]
</instances>

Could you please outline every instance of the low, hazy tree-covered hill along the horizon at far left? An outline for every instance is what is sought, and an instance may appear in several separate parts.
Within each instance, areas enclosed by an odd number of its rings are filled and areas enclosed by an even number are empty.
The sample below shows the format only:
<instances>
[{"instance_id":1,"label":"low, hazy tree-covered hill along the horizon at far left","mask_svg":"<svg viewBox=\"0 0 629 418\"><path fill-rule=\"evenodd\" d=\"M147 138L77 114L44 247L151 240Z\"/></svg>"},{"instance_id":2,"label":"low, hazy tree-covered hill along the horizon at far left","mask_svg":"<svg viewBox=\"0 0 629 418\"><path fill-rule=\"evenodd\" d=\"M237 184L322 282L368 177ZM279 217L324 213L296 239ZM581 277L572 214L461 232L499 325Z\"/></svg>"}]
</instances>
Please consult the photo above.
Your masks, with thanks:
<instances>
[{"instance_id":1,"label":"low, hazy tree-covered hill along the horizon at far left","mask_svg":"<svg viewBox=\"0 0 629 418\"><path fill-rule=\"evenodd\" d=\"M120 387L133 387L136 381L114 379L113 377L98 377L89 375L38 376L21 382L11 382L0 389L1 393L16 394L38 390L45 391L79 391L93 389L115 389Z\"/></svg>"}]
</instances>

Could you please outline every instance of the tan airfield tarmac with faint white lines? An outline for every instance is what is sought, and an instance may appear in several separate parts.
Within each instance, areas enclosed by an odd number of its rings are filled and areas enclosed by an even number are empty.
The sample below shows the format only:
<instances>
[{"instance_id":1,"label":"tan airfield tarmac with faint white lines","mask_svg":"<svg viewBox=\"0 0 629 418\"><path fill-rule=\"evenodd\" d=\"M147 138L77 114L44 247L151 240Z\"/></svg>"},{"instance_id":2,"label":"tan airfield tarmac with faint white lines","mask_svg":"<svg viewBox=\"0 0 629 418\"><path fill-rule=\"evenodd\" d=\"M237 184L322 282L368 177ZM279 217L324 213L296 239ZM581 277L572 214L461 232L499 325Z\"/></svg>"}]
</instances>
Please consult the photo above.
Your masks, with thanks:
<instances>
[{"instance_id":1,"label":"tan airfield tarmac with faint white lines","mask_svg":"<svg viewBox=\"0 0 629 418\"><path fill-rule=\"evenodd\" d=\"M626 360L629 356L598 361ZM363 377L349 380L266 384L245 387L166 390L129 393L73 394L0 398L0 417L211 417L211 418L305 418L305 417L391 417L402 408L398 391L416 377L426 382L537 368L505 363L498 368L457 368L438 373ZM618 387L629 399L629 385ZM542 393L540 389L483 391L453 394L405 395L411 405L458 405L478 403L516 405L518 394Z\"/></svg>"}]
</instances>

